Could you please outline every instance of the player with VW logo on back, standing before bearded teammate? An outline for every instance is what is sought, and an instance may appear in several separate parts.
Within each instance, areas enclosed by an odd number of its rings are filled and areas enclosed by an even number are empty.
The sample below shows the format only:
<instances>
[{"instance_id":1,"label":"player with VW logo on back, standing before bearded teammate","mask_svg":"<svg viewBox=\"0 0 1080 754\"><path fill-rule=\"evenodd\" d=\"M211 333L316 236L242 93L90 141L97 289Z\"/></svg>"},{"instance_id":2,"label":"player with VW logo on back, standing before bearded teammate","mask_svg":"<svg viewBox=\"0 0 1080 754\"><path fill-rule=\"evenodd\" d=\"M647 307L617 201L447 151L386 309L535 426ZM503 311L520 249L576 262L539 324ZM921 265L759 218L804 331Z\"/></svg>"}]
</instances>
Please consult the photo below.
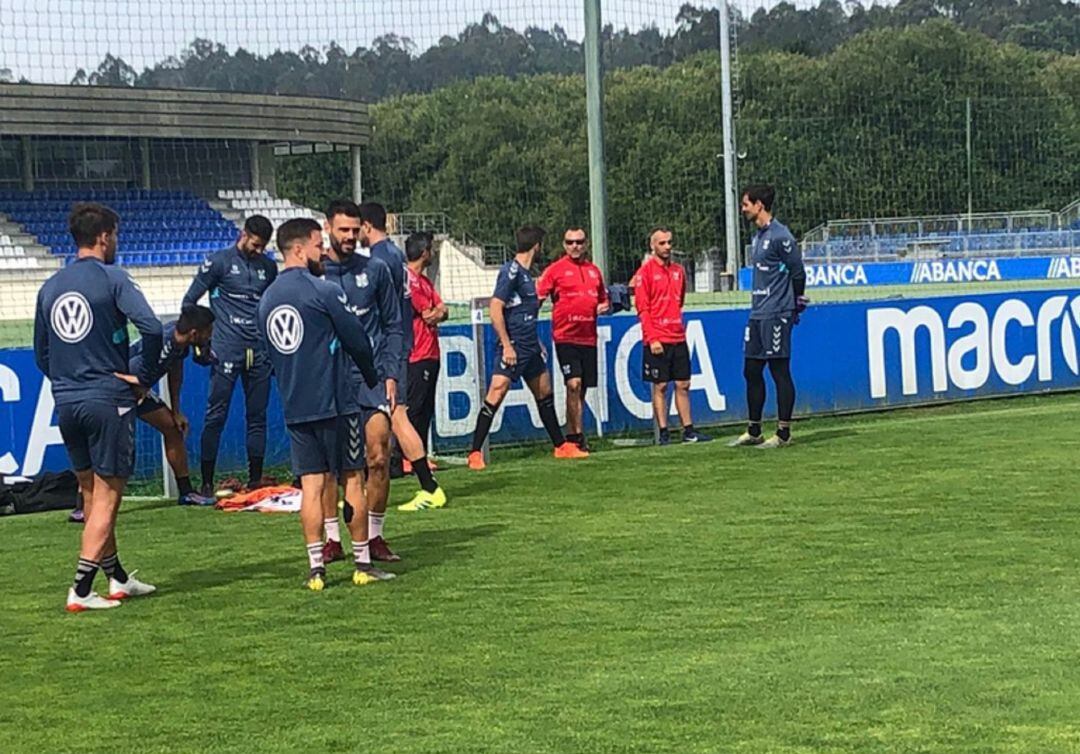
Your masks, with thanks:
<instances>
[{"instance_id":1,"label":"player with VW logo on back, standing before bearded teammate","mask_svg":"<svg viewBox=\"0 0 1080 754\"><path fill-rule=\"evenodd\" d=\"M379 383L372 347L341 288L320 280L323 230L312 219L291 219L278 228L278 248L285 269L262 294L258 329L278 376L293 473L300 477L300 523L308 550L308 579L313 592L325 585L323 561L323 496L335 484L340 463L338 395L347 385L342 362L333 354L345 349L367 387ZM349 516L346 516L349 519ZM364 539L360 519L349 521L353 542ZM370 564L356 563L353 582L369 583Z\"/></svg>"}]
</instances>

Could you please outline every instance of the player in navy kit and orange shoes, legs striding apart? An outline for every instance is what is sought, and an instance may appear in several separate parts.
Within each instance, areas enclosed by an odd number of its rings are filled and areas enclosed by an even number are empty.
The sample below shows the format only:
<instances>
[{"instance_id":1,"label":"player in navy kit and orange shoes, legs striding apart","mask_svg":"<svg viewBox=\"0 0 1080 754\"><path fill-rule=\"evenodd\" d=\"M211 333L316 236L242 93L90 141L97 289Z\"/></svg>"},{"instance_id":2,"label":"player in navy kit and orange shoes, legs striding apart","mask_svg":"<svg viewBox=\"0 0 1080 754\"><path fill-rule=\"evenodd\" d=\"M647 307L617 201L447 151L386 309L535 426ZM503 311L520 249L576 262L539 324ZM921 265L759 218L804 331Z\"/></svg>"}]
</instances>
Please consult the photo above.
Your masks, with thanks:
<instances>
[{"instance_id":1,"label":"player in navy kit and orange shoes, legs striding apart","mask_svg":"<svg viewBox=\"0 0 1080 754\"><path fill-rule=\"evenodd\" d=\"M589 454L563 436L563 428L555 415L555 398L551 392L551 375L548 374L548 358L537 333L537 314L540 299L537 297L536 282L529 274L532 260L543 245L544 230L535 225L517 229L517 253L514 258L499 268L491 295L491 326L499 338L495 352L495 368L491 385L484 398L484 406L476 417L473 430L472 452L469 468L480 471L485 468L484 441L491 431L491 422L499 405L507 398L510 386L524 379L537 401L540 420L552 445L555 458L588 458Z\"/></svg>"}]
</instances>

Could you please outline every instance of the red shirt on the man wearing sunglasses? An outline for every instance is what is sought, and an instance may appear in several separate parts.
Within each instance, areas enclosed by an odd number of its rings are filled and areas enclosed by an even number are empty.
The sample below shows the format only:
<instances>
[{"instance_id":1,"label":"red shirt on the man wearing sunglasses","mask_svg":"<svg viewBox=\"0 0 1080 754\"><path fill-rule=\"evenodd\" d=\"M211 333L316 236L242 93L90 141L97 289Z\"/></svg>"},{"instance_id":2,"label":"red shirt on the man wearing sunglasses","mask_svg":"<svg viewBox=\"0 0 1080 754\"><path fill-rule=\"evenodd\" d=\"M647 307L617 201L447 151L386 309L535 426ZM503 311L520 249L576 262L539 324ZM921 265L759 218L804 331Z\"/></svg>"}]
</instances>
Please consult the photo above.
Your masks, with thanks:
<instances>
[{"instance_id":1,"label":"red shirt on the man wearing sunglasses","mask_svg":"<svg viewBox=\"0 0 1080 754\"><path fill-rule=\"evenodd\" d=\"M555 342L596 345L596 307L608 300L600 268L585 258L575 261L564 255L540 275L537 296L551 296Z\"/></svg>"}]
</instances>

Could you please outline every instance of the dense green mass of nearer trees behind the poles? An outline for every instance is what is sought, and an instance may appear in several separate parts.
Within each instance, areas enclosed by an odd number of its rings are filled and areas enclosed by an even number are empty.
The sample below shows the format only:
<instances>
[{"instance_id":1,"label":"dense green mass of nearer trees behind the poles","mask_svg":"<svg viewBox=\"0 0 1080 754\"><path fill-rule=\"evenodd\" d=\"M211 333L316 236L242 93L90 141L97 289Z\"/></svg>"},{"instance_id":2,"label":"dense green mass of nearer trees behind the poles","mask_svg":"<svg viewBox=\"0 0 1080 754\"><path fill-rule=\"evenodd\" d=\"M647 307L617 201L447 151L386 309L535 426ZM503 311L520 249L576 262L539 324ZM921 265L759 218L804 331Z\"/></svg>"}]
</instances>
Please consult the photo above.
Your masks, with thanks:
<instances>
[{"instance_id":1,"label":"dense green mass of nearer trees behind the poles","mask_svg":"<svg viewBox=\"0 0 1080 754\"><path fill-rule=\"evenodd\" d=\"M1080 197L1080 56L936 21L864 32L816 57L746 53L735 90L739 179L777 184L779 215L797 234L845 217L961 213L969 189L976 212ZM588 221L581 76L462 81L389 98L373 117L365 189L391 206L446 212L490 241L525 219ZM611 71L605 121L621 273L656 223L686 251L721 245L717 55ZM349 186L345 156L279 163L279 190L313 206Z\"/></svg>"}]
</instances>

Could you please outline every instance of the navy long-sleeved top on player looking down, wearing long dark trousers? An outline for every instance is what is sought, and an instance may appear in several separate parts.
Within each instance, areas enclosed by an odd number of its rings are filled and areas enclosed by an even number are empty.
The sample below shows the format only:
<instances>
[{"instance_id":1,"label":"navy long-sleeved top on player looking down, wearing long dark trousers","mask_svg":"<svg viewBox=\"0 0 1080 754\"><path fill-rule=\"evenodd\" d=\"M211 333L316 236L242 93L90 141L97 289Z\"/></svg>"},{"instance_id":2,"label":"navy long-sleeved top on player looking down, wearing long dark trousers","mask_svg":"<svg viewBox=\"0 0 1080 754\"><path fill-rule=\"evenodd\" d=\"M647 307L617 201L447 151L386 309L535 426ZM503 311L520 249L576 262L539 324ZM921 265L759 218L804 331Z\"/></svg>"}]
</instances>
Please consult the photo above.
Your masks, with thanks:
<instances>
[{"instance_id":1,"label":"navy long-sleeved top on player looking down, wearing long dark trousers","mask_svg":"<svg viewBox=\"0 0 1080 754\"><path fill-rule=\"evenodd\" d=\"M184 306L198 304L210 292L214 312L214 351L224 361L243 361L243 352L262 348L256 325L259 299L278 277L278 265L266 254L247 256L235 244L215 252L184 294Z\"/></svg>"}]
</instances>

